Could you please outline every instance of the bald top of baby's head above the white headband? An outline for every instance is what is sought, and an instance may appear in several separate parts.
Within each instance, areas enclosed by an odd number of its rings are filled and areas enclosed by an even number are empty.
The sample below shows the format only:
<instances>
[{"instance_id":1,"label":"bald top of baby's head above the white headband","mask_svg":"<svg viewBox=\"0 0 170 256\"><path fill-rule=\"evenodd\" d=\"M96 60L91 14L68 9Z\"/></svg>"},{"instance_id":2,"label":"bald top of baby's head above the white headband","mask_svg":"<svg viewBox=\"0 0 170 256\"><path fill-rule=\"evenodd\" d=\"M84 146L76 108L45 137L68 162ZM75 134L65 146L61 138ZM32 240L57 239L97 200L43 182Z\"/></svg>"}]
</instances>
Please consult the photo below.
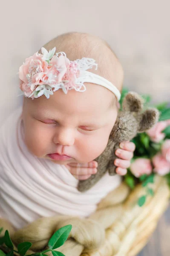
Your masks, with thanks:
<instances>
[{"instance_id":1,"label":"bald top of baby's head above the white headband","mask_svg":"<svg viewBox=\"0 0 170 256\"><path fill-rule=\"evenodd\" d=\"M59 35L45 44L44 47L48 51L56 47L57 52L65 52L71 61L83 57L95 59L98 69L93 68L89 71L104 77L121 90L123 84L122 66L115 53L101 38L86 33L72 32Z\"/></svg>"}]
</instances>

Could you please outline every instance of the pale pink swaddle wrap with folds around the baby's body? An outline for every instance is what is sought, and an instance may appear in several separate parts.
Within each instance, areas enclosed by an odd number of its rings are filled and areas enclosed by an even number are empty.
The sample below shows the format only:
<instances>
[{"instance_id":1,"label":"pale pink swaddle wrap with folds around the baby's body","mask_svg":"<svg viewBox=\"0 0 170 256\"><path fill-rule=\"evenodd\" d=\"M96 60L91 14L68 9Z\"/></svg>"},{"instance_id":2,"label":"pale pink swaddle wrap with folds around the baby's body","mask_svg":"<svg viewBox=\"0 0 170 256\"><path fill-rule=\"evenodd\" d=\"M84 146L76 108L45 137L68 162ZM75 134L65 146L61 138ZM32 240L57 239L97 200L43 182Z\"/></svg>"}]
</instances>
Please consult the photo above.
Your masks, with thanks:
<instances>
[{"instance_id":1,"label":"pale pink swaddle wrap with folds around the baby's body","mask_svg":"<svg viewBox=\"0 0 170 256\"><path fill-rule=\"evenodd\" d=\"M64 165L29 152L21 111L21 107L15 110L0 127L0 218L21 228L43 216L87 217L121 183L121 177L106 173L89 191L79 192L78 180Z\"/></svg>"}]
</instances>

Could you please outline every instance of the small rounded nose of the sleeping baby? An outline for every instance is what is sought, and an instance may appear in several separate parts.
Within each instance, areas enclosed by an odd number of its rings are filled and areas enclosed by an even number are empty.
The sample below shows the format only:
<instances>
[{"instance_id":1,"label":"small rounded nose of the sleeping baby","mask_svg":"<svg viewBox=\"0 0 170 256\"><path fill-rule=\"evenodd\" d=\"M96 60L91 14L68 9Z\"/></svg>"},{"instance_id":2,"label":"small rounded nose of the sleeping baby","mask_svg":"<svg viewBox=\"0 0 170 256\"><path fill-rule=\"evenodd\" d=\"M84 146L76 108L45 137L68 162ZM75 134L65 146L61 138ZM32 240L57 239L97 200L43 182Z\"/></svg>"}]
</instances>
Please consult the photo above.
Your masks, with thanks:
<instances>
[{"instance_id":1,"label":"small rounded nose of the sleeping baby","mask_svg":"<svg viewBox=\"0 0 170 256\"><path fill-rule=\"evenodd\" d=\"M74 144L75 138L72 129L69 128L61 128L58 130L54 137L54 143L60 145L69 145L72 146Z\"/></svg>"}]
</instances>

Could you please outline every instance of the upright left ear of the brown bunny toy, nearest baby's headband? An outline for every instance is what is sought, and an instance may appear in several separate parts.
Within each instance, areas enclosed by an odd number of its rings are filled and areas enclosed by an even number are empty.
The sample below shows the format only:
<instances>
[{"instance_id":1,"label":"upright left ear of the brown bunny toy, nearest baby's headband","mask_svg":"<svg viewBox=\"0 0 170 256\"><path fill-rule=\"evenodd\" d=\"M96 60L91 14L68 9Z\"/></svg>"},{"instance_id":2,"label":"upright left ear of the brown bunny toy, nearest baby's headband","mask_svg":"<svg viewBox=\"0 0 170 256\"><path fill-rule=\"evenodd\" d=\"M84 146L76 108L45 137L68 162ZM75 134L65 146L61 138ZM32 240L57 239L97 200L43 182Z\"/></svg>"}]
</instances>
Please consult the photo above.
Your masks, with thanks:
<instances>
[{"instance_id":1,"label":"upright left ear of the brown bunny toy, nearest baby's headband","mask_svg":"<svg viewBox=\"0 0 170 256\"><path fill-rule=\"evenodd\" d=\"M138 93L129 92L124 98L122 105L123 110L130 112L141 111L141 109L143 108L143 102L144 100L141 98L141 96L138 95Z\"/></svg>"}]
</instances>

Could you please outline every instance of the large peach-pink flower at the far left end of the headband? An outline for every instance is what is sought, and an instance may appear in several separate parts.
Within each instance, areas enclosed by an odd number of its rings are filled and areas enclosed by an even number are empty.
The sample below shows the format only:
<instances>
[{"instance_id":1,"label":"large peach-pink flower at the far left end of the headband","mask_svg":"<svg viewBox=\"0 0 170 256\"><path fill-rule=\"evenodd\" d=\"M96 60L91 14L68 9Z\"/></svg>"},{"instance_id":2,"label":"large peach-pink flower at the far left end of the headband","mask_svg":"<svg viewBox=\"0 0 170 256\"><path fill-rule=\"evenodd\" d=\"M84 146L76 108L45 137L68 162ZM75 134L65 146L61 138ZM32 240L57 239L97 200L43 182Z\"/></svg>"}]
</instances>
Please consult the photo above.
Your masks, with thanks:
<instances>
[{"instance_id":1,"label":"large peach-pink flower at the far left end of the headband","mask_svg":"<svg viewBox=\"0 0 170 256\"><path fill-rule=\"evenodd\" d=\"M30 87L31 91L37 84L42 84L42 77L48 73L48 62L43 60L43 55L36 52L33 56L26 58L25 63L19 68L19 78Z\"/></svg>"}]
</instances>

